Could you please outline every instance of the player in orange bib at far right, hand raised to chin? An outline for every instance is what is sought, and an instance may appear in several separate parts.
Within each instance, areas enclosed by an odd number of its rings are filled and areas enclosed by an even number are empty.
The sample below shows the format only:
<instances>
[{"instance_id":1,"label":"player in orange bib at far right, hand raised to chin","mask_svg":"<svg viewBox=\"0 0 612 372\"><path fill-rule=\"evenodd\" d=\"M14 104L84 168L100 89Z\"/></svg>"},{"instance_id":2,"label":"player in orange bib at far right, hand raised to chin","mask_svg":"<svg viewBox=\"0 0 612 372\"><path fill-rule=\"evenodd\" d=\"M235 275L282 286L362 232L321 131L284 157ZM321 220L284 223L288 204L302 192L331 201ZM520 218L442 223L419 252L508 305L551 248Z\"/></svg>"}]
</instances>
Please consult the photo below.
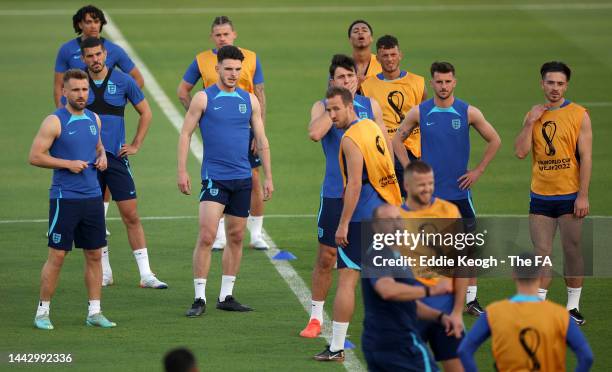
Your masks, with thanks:
<instances>
[{"instance_id":1,"label":"player in orange bib at far right, hand raised to chin","mask_svg":"<svg viewBox=\"0 0 612 372\"><path fill-rule=\"evenodd\" d=\"M589 214L592 144L591 119L587 110L564 94L571 76L562 62L548 62L540 69L546 103L534 106L525 116L516 138L519 159L531 151L531 201L529 230L536 254L550 255L557 225L565 256L567 310L582 325L579 302L583 283L580 235L583 218ZM544 270L538 294L546 298L552 280Z\"/></svg>"}]
</instances>

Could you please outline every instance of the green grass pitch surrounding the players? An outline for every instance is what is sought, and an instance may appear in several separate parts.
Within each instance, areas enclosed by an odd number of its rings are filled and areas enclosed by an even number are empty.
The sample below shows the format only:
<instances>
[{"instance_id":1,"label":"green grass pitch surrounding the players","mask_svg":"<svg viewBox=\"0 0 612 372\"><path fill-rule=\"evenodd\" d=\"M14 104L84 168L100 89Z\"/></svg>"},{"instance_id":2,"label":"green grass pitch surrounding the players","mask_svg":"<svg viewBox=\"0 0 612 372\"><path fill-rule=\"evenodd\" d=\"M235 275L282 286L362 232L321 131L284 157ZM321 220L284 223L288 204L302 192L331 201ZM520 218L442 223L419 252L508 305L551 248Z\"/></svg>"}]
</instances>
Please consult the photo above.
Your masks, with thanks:
<instances>
[{"instance_id":1,"label":"green grass pitch surrounding the players","mask_svg":"<svg viewBox=\"0 0 612 372\"><path fill-rule=\"evenodd\" d=\"M497 8L490 7L492 4ZM574 71L567 97L578 103L592 103L586 104L594 133L591 212L608 215L612 206L612 173L608 170L612 150L606 145L612 138L612 3L591 1L592 9L585 9L569 1L537 2L550 4L552 10L548 11L543 10L545 7L512 9L514 4L533 6L532 2L465 1L461 5L468 7L458 7L454 1L423 1L419 3L422 8L409 11L402 8L406 5L403 2L393 1L377 4L382 7L379 9L362 0L336 2L336 8L319 0L234 1L222 9L174 14L177 8L218 4L96 3L109 12L179 108L176 86L194 55L211 46L208 34L213 17L230 16L238 31L236 44L257 51L264 69L267 133L276 187L273 200L266 204L266 214L316 214L324 163L320 145L312 143L306 134L310 107L324 94L331 55L350 53L346 28L354 19L364 18L372 24L375 38L385 33L398 37L404 52L402 66L408 71L427 76L432 61L452 62L458 77L456 95L479 107L498 130L502 149L474 188L478 213L526 213L530 161L516 160L512 143L525 112L542 101L540 65L553 59L567 62ZM56 330L41 332L33 328L40 268L46 258L46 223L6 221L47 216L51 172L29 166L27 154L40 122L54 110L55 56L59 46L74 37L71 16L82 5L66 1L0 3L0 353L4 353L0 370L28 368L7 364L9 352L64 352L74 356L74 362L64 366L67 370L156 371L161 369L163 353L179 345L190 347L205 370L341 370L337 364L310 360L323 349L325 341L298 337L307 314L261 252L245 250L235 287L236 296L252 305L255 312L227 314L211 308L201 319L183 316L193 298L191 252L197 234L195 218L143 222L151 265L170 285L166 291L137 288L137 269L123 226L117 220L109 222L116 285L104 289L102 303L107 316L119 324L116 329L89 329L83 324L87 298L83 259L78 250L66 261L52 302ZM340 6L347 8L340 10ZM168 11L151 14L163 8ZM11 12L41 9L53 10L53 14ZM141 14L138 9L148 13ZM154 119L141 151L130 159L140 215L196 216L196 196L185 197L176 188L177 132L145 93ZM136 116L131 109L126 111L129 140ZM478 160L483 141L477 136L472 139L472 159ZM193 156L189 167L192 181L197 184L199 164ZM114 206L109 216L117 217ZM599 229L595 231L609 233L607 221L597 220ZM310 285L316 252L315 219L268 218L264 226L279 248L298 257L292 265ZM596 242L596 248L604 249L609 240L596 236ZM211 303L218 294L220 276L220 255L214 255L207 290ZM594 350L597 371L612 366L606 346L612 337L608 316L611 290L611 279L590 278L582 296L581 310L588 320L583 330ZM512 293L508 279L482 280L479 285L483 304ZM555 280L550 293L552 300L564 303L561 280ZM328 314L332 300L330 295ZM349 338L357 344L357 355L363 361L359 350L363 319L360 301L358 297ZM472 320L466 318L466 322L469 325ZM569 359L572 365L573 357ZM491 369L488 345L479 351L478 361L482 370Z\"/></svg>"}]
</instances>

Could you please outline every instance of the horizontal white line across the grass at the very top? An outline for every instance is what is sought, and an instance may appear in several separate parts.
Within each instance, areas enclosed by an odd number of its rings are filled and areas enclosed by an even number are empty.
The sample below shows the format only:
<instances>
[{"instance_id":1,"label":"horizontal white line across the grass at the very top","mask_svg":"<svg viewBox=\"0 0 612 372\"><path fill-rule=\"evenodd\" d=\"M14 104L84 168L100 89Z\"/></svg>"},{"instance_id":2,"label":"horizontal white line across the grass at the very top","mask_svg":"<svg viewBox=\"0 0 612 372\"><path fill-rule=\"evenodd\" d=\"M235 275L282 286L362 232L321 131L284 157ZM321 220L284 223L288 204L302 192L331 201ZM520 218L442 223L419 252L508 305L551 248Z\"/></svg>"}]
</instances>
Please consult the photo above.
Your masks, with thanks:
<instances>
[{"instance_id":1,"label":"horizontal white line across the grass at the very top","mask_svg":"<svg viewBox=\"0 0 612 372\"><path fill-rule=\"evenodd\" d=\"M198 15L252 13L392 13L392 12L498 12L498 11L593 11L610 10L612 3L587 4L456 4L456 5L377 5L377 6L293 6L244 8L123 8L104 9L115 15ZM1 9L0 16L66 16L74 9Z\"/></svg>"}]
</instances>

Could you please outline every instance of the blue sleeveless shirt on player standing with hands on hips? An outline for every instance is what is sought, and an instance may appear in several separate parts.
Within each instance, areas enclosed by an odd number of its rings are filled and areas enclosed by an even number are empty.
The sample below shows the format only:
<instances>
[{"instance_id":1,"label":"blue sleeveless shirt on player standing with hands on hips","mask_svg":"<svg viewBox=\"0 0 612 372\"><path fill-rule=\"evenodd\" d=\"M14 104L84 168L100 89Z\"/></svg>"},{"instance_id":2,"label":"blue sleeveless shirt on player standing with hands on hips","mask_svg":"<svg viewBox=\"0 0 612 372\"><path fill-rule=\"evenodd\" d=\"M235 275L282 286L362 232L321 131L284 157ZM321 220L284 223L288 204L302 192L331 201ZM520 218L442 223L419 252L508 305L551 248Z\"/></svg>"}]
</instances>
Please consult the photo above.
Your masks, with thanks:
<instances>
[{"instance_id":1,"label":"blue sleeveless shirt on player standing with hands on hips","mask_svg":"<svg viewBox=\"0 0 612 372\"><path fill-rule=\"evenodd\" d=\"M433 168L434 196L445 200L469 198L458 181L470 160L468 107L458 98L448 108L437 107L433 98L419 105L421 160Z\"/></svg>"}]
</instances>

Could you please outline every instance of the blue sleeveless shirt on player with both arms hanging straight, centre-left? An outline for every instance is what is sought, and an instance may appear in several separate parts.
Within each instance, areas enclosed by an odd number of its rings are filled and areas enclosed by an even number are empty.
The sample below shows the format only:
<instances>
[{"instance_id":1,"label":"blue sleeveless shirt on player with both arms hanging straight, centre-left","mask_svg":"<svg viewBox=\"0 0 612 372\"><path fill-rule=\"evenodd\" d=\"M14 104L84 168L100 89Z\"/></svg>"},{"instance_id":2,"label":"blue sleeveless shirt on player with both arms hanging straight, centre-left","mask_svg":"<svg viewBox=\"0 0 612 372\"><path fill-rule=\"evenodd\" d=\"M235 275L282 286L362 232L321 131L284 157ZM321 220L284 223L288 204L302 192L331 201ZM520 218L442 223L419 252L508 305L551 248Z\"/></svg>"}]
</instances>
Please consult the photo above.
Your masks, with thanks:
<instances>
[{"instance_id":1,"label":"blue sleeveless shirt on player with both arms hanging straight, centre-left","mask_svg":"<svg viewBox=\"0 0 612 372\"><path fill-rule=\"evenodd\" d=\"M249 132L251 97L236 88L225 92L214 84L206 92L206 110L200 118L204 142L202 180L251 178Z\"/></svg>"}]
</instances>

